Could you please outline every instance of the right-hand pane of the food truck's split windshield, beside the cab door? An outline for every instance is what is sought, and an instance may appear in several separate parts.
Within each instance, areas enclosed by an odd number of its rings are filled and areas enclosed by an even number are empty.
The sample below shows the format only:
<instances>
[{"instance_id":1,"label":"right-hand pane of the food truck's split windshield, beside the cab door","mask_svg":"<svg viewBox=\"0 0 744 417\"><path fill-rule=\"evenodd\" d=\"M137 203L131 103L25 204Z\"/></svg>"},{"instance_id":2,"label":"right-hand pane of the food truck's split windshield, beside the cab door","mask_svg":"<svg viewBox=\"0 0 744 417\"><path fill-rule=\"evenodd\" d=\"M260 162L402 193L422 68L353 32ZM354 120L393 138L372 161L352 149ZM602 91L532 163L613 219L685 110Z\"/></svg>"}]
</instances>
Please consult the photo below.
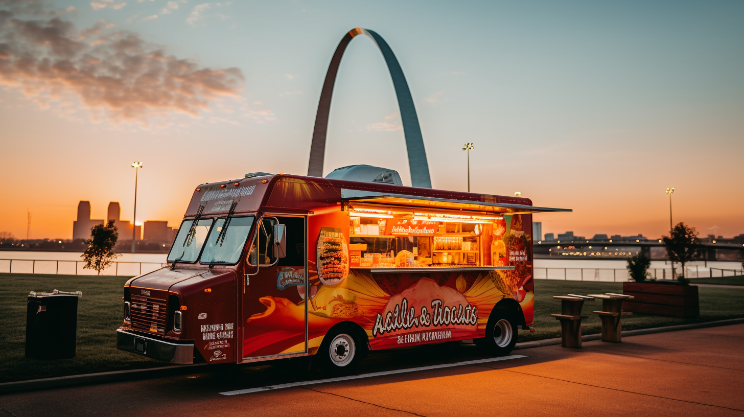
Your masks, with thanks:
<instances>
[{"instance_id":1,"label":"right-hand pane of the food truck's split windshield, beside the cab door","mask_svg":"<svg viewBox=\"0 0 744 417\"><path fill-rule=\"evenodd\" d=\"M225 218L221 217L214 223L202 253L202 264L237 264L240 261L254 217L231 217L227 229L222 232Z\"/></svg>"}]
</instances>

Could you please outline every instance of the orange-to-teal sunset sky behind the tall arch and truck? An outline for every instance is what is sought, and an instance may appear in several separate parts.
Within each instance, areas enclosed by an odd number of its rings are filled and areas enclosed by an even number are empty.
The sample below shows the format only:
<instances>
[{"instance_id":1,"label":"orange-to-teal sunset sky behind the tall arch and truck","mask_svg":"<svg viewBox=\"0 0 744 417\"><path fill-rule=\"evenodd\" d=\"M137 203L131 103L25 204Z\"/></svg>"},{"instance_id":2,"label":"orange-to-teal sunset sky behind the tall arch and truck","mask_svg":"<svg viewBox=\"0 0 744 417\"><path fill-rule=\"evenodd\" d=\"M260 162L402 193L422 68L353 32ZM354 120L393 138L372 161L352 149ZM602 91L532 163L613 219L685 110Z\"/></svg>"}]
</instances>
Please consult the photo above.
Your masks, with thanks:
<instances>
[{"instance_id":1,"label":"orange-to-teal sunset sky behind the tall arch and truck","mask_svg":"<svg viewBox=\"0 0 744 417\"><path fill-rule=\"evenodd\" d=\"M542 232L744 233L743 1L0 0L0 232L71 238L77 203L178 226L202 182L307 174L352 28L400 61L434 188L536 206ZM397 101L370 39L336 81L324 173L393 168Z\"/></svg>"}]
</instances>

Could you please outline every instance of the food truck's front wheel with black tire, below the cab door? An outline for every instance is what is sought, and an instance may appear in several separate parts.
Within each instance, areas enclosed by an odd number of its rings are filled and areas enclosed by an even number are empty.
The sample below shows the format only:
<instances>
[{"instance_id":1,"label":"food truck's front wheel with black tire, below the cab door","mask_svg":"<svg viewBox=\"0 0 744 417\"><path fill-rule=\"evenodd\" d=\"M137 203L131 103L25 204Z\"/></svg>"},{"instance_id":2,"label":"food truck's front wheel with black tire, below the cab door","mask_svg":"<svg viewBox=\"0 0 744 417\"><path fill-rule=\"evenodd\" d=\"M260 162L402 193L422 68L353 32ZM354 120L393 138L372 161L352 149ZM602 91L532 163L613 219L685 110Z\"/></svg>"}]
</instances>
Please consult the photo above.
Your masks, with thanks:
<instances>
[{"instance_id":1,"label":"food truck's front wheel with black tire, below the cab door","mask_svg":"<svg viewBox=\"0 0 744 417\"><path fill-rule=\"evenodd\" d=\"M323 337L318 352L313 357L318 370L327 375L351 374L365 356L366 345L350 326L332 328Z\"/></svg>"}]
</instances>

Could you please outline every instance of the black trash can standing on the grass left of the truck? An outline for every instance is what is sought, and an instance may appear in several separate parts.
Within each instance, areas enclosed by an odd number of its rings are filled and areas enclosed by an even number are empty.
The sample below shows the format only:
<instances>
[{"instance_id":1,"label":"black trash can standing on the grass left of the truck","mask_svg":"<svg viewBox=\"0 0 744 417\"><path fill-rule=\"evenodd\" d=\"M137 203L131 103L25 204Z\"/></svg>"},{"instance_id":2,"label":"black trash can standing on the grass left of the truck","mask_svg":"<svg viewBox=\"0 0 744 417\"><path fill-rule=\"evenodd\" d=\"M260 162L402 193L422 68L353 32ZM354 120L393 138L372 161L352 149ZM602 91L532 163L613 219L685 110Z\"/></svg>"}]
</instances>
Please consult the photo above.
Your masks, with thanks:
<instances>
[{"instance_id":1,"label":"black trash can standing on the grass left of the truck","mask_svg":"<svg viewBox=\"0 0 744 417\"><path fill-rule=\"evenodd\" d=\"M77 299L80 291L28 295L26 310L26 357L65 359L75 356Z\"/></svg>"}]
</instances>

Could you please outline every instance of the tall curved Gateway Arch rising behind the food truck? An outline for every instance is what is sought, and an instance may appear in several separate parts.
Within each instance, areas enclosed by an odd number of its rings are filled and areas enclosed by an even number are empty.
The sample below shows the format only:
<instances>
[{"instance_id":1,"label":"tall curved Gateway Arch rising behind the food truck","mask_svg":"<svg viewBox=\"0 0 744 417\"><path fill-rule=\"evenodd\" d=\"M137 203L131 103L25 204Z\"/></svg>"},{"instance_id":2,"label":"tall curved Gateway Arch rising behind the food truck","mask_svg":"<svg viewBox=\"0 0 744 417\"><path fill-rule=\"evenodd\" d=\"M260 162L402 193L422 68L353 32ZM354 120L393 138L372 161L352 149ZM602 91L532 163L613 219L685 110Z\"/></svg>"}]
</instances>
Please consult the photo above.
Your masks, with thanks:
<instances>
[{"instance_id":1,"label":"tall curved Gateway Arch rising behind the food truck","mask_svg":"<svg viewBox=\"0 0 744 417\"><path fill-rule=\"evenodd\" d=\"M426 150L423 146L423 137L421 136L421 128L419 126L418 116L416 115L416 107L414 106L413 98L411 98L411 92L408 90L408 83L405 82L403 69L400 68L395 54L393 54L385 39L382 39L382 36L379 36L374 31L362 28L352 29L341 39L339 46L336 47L336 52L333 53L330 66L328 66L328 72L323 83L323 89L321 90L321 99L318 103L318 113L315 115L315 128L312 131L310 164L307 168L307 175L323 176L323 160L325 157L326 133L328 130L330 101L333 96L333 85L336 83L336 74L339 71L341 57L343 57L346 47L354 36L359 35L366 35L372 39L379 48L379 51L382 52L382 57L385 57L385 63L388 64L390 77L395 87L395 95L398 98L400 118L403 121L405 147L408 151L408 166L411 169L411 185L414 187L432 188L432 180L429 178L429 163L426 162Z\"/></svg>"}]
</instances>

